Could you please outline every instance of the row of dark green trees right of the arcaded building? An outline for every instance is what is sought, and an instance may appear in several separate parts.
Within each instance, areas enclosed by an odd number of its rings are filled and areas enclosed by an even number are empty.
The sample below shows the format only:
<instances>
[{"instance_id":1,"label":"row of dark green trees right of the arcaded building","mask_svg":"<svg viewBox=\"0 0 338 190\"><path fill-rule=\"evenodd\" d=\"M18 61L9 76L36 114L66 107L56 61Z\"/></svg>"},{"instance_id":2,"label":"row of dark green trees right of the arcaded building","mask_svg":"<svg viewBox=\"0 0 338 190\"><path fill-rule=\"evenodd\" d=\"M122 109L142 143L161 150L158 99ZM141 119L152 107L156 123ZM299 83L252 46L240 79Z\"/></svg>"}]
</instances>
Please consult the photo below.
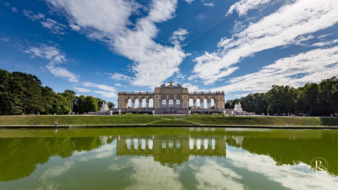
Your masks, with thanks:
<instances>
[{"instance_id":1,"label":"row of dark green trees right of the arcaded building","mask_svg":"<svg viewBox=\"0 0 338 190\"><path fill-rule=\"evenodd\" d=\"M319 83L306 83L299 88L273 85L267 92L227 100L225 107L234 108L238 102L242 104L243 110L257 114L308 113L329 116L338 112L338 79L323 79Z\"/></svg>"}]
</instances>

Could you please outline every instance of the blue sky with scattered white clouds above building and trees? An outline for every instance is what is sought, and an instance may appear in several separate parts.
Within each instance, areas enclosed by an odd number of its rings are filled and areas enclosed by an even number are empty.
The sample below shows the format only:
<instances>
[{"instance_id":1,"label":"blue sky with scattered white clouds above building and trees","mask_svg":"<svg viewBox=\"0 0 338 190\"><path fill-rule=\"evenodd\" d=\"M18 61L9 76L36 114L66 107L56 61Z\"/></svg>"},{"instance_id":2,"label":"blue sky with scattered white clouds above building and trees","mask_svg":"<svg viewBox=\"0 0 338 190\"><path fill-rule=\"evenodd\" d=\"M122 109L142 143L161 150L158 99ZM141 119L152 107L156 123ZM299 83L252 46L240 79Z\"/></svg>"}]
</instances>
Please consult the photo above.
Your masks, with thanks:
<instances>
[{"instance_id":1,"label":"blue sky with scattered white clouds above building and trees","mask_svg":"<svg viewBox=\"0 0 338 190\"><path fill-rule=\"evenodd\" d=\"M225 99L338 75L336 0L0 1L0 68L117 102L169 80Z\"/></svg>"}]
</instances>

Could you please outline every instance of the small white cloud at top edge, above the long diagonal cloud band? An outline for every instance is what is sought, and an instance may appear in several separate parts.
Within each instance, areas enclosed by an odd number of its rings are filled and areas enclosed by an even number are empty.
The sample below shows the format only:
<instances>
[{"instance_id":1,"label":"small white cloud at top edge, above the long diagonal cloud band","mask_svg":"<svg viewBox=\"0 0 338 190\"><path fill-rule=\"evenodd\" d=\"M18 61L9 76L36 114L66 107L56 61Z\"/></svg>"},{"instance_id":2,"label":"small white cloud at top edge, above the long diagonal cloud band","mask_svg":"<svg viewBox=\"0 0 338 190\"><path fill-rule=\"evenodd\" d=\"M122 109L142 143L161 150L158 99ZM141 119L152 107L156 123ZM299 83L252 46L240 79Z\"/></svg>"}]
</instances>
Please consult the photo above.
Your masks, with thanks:
<instances>
[{"instance_id":1,"label":"small white cloud at top edge, above the long diagonal cloud band","mask_svg":"<svg viewBox=\"0 0 338 190\"><path fill-rule=\"evenodd\" d=\"M269 2L270 0L240 0L230 7L226 16L231 15L234 10L239 16L243 16L246 15L249 10L260 8L263 4L267 4Z\"/></svg>"}]
</instances>

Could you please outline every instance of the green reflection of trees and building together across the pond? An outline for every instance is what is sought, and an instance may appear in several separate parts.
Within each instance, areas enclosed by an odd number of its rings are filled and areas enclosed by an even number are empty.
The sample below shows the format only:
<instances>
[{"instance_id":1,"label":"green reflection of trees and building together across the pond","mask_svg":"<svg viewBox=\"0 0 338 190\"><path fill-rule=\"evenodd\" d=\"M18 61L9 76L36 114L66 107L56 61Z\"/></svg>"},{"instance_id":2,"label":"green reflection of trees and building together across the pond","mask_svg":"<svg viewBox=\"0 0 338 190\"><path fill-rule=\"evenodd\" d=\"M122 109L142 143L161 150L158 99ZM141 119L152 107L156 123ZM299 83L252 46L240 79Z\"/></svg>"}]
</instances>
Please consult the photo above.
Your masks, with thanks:
<instances>
[{"instance_id":1,"label":"green reflection of trees and building together across the pond","mask_svg":"<svg viewBox=\"0 0 338 190\"><path fill-rule=\"evenodd\" d=\"M153 157L175 167L191 157L226 157L226 145L267 155L276 165L309 164L325 158L331 175L338 174L338 131L226 128L95 128L21 129L0 131L0 182L28 177L50 157L70 157L116 141L117 159Z\"/></svg>"}]
</instances>

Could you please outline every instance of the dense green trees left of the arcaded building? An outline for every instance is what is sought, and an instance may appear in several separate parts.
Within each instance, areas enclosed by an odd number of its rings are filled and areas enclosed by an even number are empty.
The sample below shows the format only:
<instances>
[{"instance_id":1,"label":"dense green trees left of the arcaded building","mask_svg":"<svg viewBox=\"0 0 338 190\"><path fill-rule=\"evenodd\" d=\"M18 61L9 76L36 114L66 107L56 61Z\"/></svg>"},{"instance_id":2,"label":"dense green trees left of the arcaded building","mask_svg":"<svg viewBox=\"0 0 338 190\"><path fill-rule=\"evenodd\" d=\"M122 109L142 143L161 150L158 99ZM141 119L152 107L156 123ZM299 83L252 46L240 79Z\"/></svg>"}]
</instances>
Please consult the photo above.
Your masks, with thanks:
<instances>
[{"instance_id":1,"label":"dense green trees left of the arcaded building","mask_svg":"<svg viewBox=\"0 0 338 190\"><path fill-rule=\"evenodd\" d=\"M73 90L54 92L42 86L35 75L0 69L0 115L71 114L98 111L106 101L92 96L76 96ZM108 102L109 108L115 104Z\"/></svg>"}]
</instances>

